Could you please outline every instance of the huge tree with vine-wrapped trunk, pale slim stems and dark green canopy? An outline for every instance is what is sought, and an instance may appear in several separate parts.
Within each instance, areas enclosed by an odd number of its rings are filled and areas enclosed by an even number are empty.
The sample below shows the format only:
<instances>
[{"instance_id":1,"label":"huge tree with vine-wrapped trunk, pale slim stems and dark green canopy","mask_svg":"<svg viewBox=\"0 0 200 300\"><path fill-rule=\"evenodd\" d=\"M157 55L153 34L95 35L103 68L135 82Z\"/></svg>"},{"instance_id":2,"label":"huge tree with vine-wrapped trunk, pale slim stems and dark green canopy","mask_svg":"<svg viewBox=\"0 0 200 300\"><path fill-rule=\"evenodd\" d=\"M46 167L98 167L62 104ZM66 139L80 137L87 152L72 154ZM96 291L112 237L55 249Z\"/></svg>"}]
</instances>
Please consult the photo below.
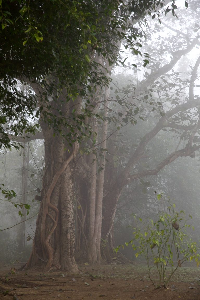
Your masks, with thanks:
<instances>
[{"instance_id":1,"label":"huge tree with vine-wrapped trunk, pale slim stems and dark green canopy","mask_svg":"<svg viewBox=\"0 0 200 300\"><path fill-rule=\"evenodd\" d=\"M115 63L124 65L124 59L119 55L122 42L125 49L130 47L135 54L140 54L138 48L141 47L139 37L142 37L142 31L135 24L141 26L142 20L146 22L147 12L150 15L154 12L159 17L158 9L163 7L163 12L167 13L169 8L164 7L161 1L132 1L126 5L121 1L19 1L17 4L2 1L2 4L5 5L4 13L9 11L13 16L9 25L2 21L2 31L5 37L10 33L10 36L17 35L20 46L20 51L17 51L18 47L14 47L10 39L11 50L7 44L2 47L4 63L10 57L2 81L2 99L17 93L11 104L3 102L4 113L11 108L10 119L13 120L14 116L14 125L18 120L25 120L22 128L19 122L19 127L16 130L11 128L10 134L23 134L28 127L28 119L24 115L19 119L20 114L15 113L24 113L26 109L32 118L40 117L45 141L41 206L33 250L26 268L49 270L56 267L77 271L73 220L75 186L78 186L77 211L82 214L77 213L77 249L80 248L81 257L86 255L89 262L102 261L100 241L109 121L106 115L109 75ZM175 8L172 1L173 15ZM13 61L20 61L20 64L10 72ZM148 60L143 63L146 65ZM13 91L16 79L32 89L25 102L22 101L22 93L17 89ZM22 99L21 102L18 99ZM5 124L5 120L1 123ZM7 140L10 138L8 134L5 137ZM85 144L88 146L85 147ZM90 174L89 178L84 175L85 170ZM127 173L124 174L123 182L126 184ZM75 180L75 175L79 176L78 180ZM124 186L121 182L118 185L118 182L109 190L112 214L106 235L103 231L104 239L111 238L113 211Z\"/></svg>"}]
</instances>

